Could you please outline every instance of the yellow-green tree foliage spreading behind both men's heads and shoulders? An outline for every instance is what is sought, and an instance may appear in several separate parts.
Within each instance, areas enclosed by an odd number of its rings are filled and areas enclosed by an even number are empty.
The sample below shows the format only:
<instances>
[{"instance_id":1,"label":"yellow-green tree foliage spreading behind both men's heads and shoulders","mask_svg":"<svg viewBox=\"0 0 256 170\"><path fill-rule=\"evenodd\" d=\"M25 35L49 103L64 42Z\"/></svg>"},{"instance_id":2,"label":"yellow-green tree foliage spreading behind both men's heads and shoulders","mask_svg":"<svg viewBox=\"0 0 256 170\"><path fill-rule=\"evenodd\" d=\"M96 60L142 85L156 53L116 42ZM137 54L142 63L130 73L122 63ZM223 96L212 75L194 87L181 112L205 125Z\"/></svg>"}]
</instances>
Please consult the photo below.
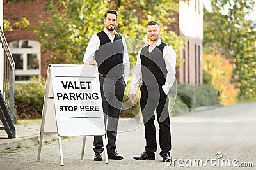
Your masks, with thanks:
<instances>
[{"instance_id":1,"label":"yellow-green tree foliage spreading behind both men's heads and shoulders","mask_svg":"<svg viewBox=\"0 0 256 170\"><path fill-rule=\"evenodd\" d=\"M50 13L47 22L40 21L41 27L35 30L40 38L43 52L54 53L53 63L67 62L81 64L90 37L104 29L104 13L107 9L118 11L120 34L127 39L127 45L143 43L149 20L161 23L161 39L173 46L179 53L183 48L183 38L168 29L173 22L173 13L178 3L172 1L92 1L92 0L47 0L45 10ZM129 47L128 47L129 48ZM134 45L129 52L138 52ZM130 56L135 61L135 55Z\"/></svg>"}]
</instances>

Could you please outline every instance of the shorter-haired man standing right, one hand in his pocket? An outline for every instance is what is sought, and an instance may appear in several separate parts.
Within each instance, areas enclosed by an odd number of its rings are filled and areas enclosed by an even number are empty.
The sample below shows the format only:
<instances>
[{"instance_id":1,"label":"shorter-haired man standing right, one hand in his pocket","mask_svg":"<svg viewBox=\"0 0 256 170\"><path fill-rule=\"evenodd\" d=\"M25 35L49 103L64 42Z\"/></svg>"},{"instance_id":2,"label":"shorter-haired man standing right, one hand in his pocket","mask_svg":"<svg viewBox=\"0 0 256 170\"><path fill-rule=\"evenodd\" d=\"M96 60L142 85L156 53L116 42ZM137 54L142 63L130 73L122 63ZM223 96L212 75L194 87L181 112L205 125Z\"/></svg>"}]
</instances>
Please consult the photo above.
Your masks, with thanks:
<instances>
[{"instance_id":1,"label":"shorter-haired man standing right, one hand in his pocket","mask_svg":"<svg viewBox=\"0 0 256 170\"><path fill-rule=\"evenodd\" d=\"M170 161L171 132L168 111L168 92L175 80L176 53L173 48L159 39L159 24L150 21L147 24L149 43L138 52L136 67L131 81L129 99L136 101L136 90L141 80L140 106L145 127L145 152L135 160L154 160L156 128L154 125L156 109L159 124L159 142L163 161Z\"/></svg>"}]
</instances>

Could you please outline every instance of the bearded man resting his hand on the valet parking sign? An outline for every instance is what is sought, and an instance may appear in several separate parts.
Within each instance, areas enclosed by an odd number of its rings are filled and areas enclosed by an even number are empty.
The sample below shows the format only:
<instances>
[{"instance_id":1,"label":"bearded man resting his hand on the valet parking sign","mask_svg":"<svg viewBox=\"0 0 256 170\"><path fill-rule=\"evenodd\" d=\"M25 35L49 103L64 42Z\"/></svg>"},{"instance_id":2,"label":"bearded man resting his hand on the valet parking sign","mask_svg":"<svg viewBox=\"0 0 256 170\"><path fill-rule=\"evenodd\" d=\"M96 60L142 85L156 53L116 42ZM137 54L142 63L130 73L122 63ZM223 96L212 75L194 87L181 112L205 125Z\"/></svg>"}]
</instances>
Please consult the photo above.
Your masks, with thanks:
<instances>
[{"instance_id":1,"label":"bearded man resting his hand on the valet parking sign","mask_svg":"<svg viewBox=\"0 0 256 170\"><path fill-rule=\"evenodd\" d=\"M108 159L122 160L116 152L116 135L119 115L130 69L127 46L123 36L116 32L118 13L107 10L105 28L94 34L84 54L84 64L98 66L104 121L108 138ZM93 59L93 56L95 59ZM106 125L106 121L108 124ZM102 136L94 136L94 160L102 160ZM106 152L106 151L105 151Z\"/></svg>"}]
</instances>

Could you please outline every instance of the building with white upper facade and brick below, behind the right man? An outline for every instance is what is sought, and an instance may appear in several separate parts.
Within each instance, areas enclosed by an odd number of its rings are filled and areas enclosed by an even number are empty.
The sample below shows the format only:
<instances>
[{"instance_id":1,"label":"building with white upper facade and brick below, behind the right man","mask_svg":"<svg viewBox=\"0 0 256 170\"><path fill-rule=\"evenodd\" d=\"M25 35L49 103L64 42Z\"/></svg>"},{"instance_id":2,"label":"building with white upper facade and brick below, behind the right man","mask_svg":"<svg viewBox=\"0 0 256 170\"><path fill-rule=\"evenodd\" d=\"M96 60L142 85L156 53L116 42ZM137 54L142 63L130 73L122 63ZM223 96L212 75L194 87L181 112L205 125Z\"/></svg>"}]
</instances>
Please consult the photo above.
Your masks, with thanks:
<instances>
[{"instance_id":1,"label":"building with white upper facade and brick below, behind the right man","mask_svg":"<svg viewBox=\"0 0 256 170\"><path fill-rule=\"evenodd\" d=\"M200 85L203 83L203 2L190 0L179 2L179 34L186 39L185 48L180 59L185 62L177 70L180 83Z\"/></svg>"}]
</instances>

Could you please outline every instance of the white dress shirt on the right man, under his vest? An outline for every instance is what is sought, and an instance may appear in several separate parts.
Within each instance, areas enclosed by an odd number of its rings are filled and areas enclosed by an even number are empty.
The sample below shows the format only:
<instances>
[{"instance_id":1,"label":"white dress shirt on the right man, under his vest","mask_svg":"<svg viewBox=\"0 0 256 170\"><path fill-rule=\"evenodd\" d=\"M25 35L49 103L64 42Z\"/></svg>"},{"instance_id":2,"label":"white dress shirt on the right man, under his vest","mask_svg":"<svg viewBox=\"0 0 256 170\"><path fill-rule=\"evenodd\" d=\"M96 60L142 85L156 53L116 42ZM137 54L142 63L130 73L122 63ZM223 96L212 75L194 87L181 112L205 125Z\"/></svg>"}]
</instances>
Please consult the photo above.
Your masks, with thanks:
<instances>
[{"instance_id":1,"label":"white dress shirt on the right man, under his vest","mask_svg":"<svg viewBox=\"0 0 256 170\"><path fill-rule=\"evenodd\" d=\"M150 43L148 43L148 45L149 45L148 52L151 53L152 50L154 50L154 48L156 48L156 46L159 46L161 44L161 42L162 42L161 39L159 39L154 45L150 45ZM136 94L138 86L142 82L141 81L141 79L142 79L141 59L140 59L141 49L139 50L138 55L137 55L137 62L136 62L136 66L134 68L134 72L132 74L131 89L130 89L129 94L132 94L132 93ZM172 85L175 81L175 74L176 74L176 70L175 70L176 53L173 50L172 46L169 46L169 45L164 46L163 59L164 59L165 65L166 65L167 75L166 75L165 84L162 86L162 89L165 94L168 94L169 89L172 87Z\"/></svg>"}]
</instances>

